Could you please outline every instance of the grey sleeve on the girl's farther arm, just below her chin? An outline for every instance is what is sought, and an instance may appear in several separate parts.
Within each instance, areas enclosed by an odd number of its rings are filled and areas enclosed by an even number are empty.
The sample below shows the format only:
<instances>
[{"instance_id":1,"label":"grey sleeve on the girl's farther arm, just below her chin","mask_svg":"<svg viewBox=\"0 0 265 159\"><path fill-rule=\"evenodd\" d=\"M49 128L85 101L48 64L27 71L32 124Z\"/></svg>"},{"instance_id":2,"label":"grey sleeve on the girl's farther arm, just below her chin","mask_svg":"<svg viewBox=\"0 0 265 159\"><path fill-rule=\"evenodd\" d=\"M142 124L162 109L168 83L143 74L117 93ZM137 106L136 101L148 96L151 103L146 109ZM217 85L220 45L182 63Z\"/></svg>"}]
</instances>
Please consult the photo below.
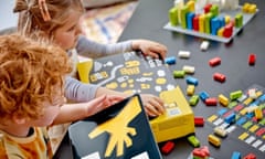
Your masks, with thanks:
<instances>
[{"instance_id":1,"label":"grey sleeve on the girl's farther arm, just below her chin","mask_svg":"<svg viewBox=\"0 0 265 159\"><path fill-rule=\"evenodd\" d=\"M78 55L91 59L132 51L131 41L125 41L115 44L100 44L93 42L83 35L78 38L76 50Z\"/></svg>"}]
</instances>

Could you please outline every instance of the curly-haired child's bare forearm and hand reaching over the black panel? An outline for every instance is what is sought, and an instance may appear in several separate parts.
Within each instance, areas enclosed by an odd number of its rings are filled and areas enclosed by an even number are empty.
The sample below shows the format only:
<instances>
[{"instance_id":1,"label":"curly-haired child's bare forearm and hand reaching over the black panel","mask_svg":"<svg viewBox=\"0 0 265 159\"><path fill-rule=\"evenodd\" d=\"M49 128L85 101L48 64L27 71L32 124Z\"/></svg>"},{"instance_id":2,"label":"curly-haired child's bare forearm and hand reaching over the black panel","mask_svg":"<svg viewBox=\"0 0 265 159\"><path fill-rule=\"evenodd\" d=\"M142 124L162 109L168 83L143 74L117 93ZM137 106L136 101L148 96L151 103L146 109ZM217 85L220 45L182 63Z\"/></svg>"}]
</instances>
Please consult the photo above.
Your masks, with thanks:
<instances>
[{"instance_id":1,"label":"curly-haired child's bare forearm and hand reaching over the black panel","mask_svg":"<svg viewBox=\"0 0 265 159\"><path fill-rule=\"evenodd\" d=\"M115 103L124 99L121 96L103 95L87 103L65 104L61 107L60 114L53 125L72 123L92 116Z\"/></svg>"}]
</instances>

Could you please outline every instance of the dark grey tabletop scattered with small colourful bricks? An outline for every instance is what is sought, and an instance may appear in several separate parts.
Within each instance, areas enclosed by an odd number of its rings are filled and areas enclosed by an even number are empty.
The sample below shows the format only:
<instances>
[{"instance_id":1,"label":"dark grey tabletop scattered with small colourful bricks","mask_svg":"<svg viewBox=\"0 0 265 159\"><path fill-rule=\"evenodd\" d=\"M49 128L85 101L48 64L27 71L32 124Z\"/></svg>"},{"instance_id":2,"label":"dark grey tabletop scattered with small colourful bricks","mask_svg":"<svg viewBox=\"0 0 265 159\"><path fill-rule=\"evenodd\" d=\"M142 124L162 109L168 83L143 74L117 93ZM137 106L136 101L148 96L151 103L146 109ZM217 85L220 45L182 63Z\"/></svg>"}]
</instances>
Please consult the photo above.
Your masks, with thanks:
<instances>
[{"instance_id":1,"label":"dark grey tabletop scattered with small colourful bricks","mask_svg":"<svg viewBox=\"0 0 265 159\"><path fill-rule=\"evenodd\" d=\"M203 41L200 38L186 35L163 29L168 23L168 10L173 6L173 0L140 0L136 11L124 30L119 41L129 39L148 39L168 46L168 56L176 56L177 64L170 65L171 71L181 70L184 64L195 66L194 77L199 80L195 93L205 91L210 96L229 94L233 91L247 89L253 84L265 87L265 6L263 0L241 0L244 2L256 3L259 12L247 23L243 30L230 43L210 41L210 47L206 52L200 50ZM178 51L190 51L189 60L179 60ZM248 54L256 54L256 64L248 65ZM208 62L210 59L220 56L222 64L218 67L210 67ZM212 74L221 72L226 75L225 83L214 82ZM187 84L184 80L176 80L177 84L186 92ZM193 107L194 116L204 116L205 118L216 113L218 107L206 107L201 102ZM197 127L195 135L200 139L201 145L209 146L206 136L212 132L209 125ZM264 141L263 141L264 142ZM193 148L186 139L176 140L174 150L163 156L166 159L186 159ZM209 146L210 152L215 159L229 159L232 152L237 150L242 156L252 152L253 148L246 144L239 144L236 139L224 139L221 148L216 149ZM258 159L265 158L265 152L253 151L258 155Z\"/></svg>"}]
</instances>

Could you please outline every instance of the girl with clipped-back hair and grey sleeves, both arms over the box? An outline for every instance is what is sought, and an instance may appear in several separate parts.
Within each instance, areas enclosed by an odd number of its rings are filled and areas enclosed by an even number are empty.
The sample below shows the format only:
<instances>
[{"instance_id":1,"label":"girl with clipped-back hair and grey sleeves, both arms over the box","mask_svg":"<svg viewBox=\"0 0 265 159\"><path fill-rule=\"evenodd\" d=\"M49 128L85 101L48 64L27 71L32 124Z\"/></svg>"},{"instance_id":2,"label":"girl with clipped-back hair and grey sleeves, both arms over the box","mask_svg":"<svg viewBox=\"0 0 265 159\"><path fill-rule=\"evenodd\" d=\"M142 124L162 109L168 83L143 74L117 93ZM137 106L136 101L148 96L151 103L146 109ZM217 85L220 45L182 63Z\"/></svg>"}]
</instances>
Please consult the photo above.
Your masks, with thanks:
<instances>
[{"instance_id":1,"label":"girl with clipped-back hair and grey sleeves, both arms over the box","mask_svg":"<svg viewBox=\"0 0 265 159\"><path fill-rule=\"evenodd\" d=\"M20 13L18 23L20 31L25 34L39 31L75 59L76 52L72 50L87 57L140 50L145 55L165 59L167 53L165 45L148 40L131 40L105 45L82 36L78 28L80 18L84 13L81 0L17 0L14 12ZM83 84L70 76L66 77L65 86L65 96L76 102L91 100L103 94L127 96L97 85ZM141 99L149 116L157 116L165 112L163 102L159 97L141 94Z\"/></svg>"}]
</instances>

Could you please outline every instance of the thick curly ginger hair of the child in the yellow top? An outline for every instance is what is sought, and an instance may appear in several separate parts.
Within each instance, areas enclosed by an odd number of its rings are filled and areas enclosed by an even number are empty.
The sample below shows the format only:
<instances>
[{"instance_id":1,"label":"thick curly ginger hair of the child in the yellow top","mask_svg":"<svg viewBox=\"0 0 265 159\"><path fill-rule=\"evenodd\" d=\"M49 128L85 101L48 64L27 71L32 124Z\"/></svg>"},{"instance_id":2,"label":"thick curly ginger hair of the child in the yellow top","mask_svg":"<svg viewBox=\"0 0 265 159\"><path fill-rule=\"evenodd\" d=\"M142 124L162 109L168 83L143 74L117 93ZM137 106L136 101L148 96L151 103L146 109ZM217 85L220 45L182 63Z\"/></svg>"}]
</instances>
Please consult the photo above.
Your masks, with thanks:
<instances>
[{"instance_id":1,"label":"thick curly ginger hair of the child in the yellow top","mask_svg":"<svg viewBox=\"0 0 265 159\"><path fill-rule=\"evenodd\" d=\"M54 97L63 97L64 77L71 71L60 46L18 33L0 36L1 120L40 117L44 103L54 105Z\"/></svg>"}]
</instances>

